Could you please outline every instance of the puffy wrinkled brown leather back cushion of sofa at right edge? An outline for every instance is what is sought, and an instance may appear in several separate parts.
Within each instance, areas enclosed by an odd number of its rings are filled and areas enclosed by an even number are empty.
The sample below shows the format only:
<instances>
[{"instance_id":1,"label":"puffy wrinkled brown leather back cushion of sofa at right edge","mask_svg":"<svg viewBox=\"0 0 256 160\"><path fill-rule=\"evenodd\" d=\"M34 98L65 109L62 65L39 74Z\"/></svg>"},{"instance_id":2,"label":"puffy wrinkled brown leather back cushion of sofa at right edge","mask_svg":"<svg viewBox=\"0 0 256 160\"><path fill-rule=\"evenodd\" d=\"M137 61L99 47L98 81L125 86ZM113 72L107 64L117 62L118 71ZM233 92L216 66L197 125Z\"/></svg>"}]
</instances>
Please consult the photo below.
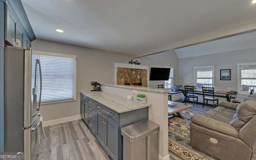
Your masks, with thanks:
<instances>
[{"instance_id":1,"label":"puffy wrinkled brown leather back cushion of sofa at right edge","mask_svg":"<svg viewBox=\"0 0 256 160\"><path fill-rule=\"evenodd\" d=\"M240 103L236 108L237 117L247 123L256 115L256 100L249 99Z\"/></svg>"}]
</instances>

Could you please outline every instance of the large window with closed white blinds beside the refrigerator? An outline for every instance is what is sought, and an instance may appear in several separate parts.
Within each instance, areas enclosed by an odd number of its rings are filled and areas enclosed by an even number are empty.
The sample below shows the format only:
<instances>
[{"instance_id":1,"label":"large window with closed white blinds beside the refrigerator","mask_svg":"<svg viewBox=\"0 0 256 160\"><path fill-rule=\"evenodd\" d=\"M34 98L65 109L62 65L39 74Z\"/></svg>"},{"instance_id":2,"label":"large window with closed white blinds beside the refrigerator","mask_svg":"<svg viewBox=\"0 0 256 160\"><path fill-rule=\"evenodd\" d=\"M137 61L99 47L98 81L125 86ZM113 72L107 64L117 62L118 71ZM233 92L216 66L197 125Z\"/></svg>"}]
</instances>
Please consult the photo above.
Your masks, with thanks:
<instances>
[{"instance_id":1,"label":"large window with closed white blinds beside the refrigerator","mask_svg":"<svg viewBox=\"0 0 256 160\"><path fill-rule=\"evenodd\" d=\"M42 67L41 102L76 100L76 56L38 54Z\"/></svg>"}]
</instances>

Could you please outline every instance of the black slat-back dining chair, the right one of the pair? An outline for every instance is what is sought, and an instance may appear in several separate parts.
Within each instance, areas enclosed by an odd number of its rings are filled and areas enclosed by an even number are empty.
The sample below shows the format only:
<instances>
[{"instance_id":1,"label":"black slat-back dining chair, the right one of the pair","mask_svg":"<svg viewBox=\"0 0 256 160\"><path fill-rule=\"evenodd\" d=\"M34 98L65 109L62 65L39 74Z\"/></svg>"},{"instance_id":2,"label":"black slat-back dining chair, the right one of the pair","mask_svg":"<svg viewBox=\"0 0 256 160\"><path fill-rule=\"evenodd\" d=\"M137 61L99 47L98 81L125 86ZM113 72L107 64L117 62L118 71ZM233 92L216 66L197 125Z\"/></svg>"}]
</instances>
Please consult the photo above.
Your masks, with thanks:
<instances>
[{"instance_id":1,"label":"black slat-back dining chair, the right one of the pair","mask_svg":"<svg viewBox=\"0 0 256 160\"><path fill-rule=\"evenodd\" d=\"M213 102L213 108L215 107L215 105L218 106L219 98L214 97L214 87L202 87L202 90L203 90L203 98L204 98L203 108L204 108L204 104L208 106L208 100ZM217 104L215 104L215 101L217 101Z\"/></svg>"}]
</instances>

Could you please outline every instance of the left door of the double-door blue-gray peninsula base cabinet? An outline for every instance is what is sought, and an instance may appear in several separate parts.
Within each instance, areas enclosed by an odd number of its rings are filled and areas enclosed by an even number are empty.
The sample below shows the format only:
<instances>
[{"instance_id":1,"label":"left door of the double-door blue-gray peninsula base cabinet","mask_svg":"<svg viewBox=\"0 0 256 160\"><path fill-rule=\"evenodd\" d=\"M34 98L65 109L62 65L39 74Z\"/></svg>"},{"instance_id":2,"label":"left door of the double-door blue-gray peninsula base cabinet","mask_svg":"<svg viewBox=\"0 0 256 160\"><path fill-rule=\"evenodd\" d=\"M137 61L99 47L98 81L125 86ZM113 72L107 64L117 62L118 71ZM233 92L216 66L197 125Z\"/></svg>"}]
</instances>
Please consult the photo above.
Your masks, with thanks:
<instances>
[{"instance_id":1,"label":"left door of the double-door blue-gray peninsula base cabinet","mask_svg":"<svg viewBox=\"0 0 256 160\"><path fill-rule=\"evenodd\" d=\"M96 110L96 138L103 147L105 142L104 118L106 118L105 114L99 110Z\"/></svg>"}]
</instances>

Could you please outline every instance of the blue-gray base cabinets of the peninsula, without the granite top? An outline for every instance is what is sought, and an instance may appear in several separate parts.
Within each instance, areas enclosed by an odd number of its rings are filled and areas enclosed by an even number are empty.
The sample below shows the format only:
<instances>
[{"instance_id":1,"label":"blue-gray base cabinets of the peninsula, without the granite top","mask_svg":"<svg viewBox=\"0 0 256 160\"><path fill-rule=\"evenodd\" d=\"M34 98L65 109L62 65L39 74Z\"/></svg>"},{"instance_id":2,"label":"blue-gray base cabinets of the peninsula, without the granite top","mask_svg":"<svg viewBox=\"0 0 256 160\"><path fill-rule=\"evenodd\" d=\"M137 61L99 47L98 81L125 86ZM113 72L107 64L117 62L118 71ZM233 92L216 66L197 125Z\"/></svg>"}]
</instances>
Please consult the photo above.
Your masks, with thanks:
<instances>
[{"instance_id":1,"label":"blue-gray base cabinets of the peninsula, without the granite top","mask_svg":"<svg viewBox=\"0 0 256 160\"><path fill-rule=\"evenodd\" d=\"M113 160L123 160L121 128L148 120L148 108L118 113L81 93L81 118Z\"/></svg>"}]
</instances>

